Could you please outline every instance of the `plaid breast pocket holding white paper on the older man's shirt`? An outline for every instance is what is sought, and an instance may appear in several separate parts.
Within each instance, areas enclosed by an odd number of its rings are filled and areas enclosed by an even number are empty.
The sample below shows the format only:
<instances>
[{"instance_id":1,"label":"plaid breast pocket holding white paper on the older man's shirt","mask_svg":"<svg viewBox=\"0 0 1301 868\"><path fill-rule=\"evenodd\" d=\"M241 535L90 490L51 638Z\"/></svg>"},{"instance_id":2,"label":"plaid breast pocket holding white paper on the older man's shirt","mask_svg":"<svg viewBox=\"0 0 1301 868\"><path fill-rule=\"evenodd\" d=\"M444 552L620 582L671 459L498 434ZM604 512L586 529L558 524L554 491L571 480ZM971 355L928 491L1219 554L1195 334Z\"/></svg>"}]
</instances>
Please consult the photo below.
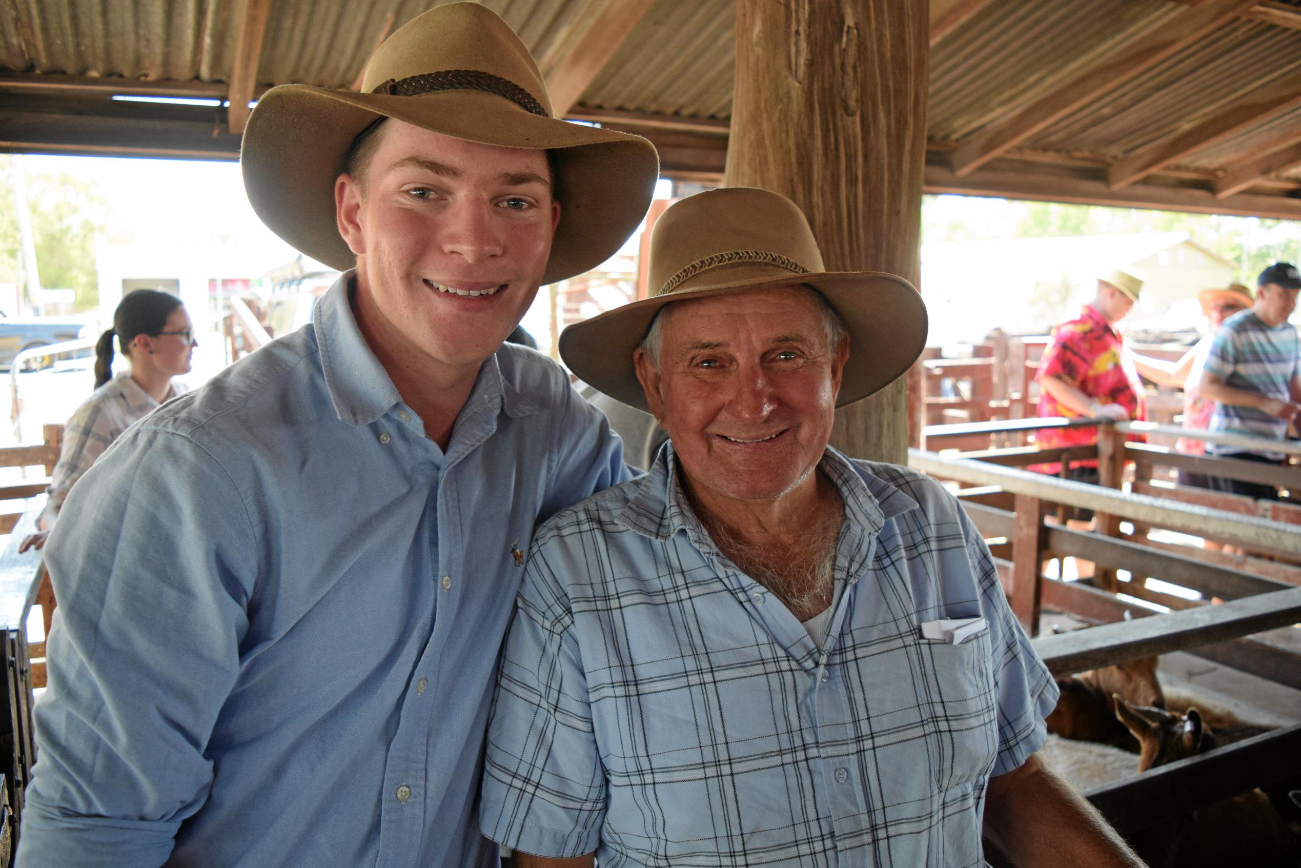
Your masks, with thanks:
<instances>
[{"instance_id":1,"label":"plaid breast pocket holding white paper on the older man's shirt","mask_svg":"<svg viewBox=\"0 0 1301 868\"><path fill-rule=\"evenodd\" d=\"M919 688L934 786L982 781L998 757L998 696L990 632L961 644L917 639Z\"/></svg>"}]
</instances>

